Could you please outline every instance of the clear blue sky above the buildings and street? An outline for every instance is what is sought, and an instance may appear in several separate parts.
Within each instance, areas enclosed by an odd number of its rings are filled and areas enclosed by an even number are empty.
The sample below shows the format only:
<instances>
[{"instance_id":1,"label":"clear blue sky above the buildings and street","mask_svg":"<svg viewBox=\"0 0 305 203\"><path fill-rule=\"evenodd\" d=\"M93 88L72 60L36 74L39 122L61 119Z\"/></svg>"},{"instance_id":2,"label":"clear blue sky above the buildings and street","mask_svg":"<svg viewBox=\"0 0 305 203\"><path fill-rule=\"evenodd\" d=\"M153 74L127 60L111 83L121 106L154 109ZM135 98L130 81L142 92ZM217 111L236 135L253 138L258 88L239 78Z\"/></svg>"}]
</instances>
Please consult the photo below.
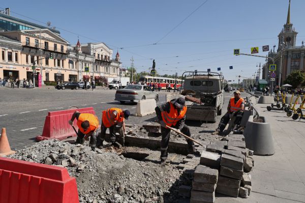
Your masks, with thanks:
<instances>
[{"instance_id":1,"label":"clear blue sky above the buildings and street","mask_svg":"<svg viewBox=\"0 0 305 203\"><path fill-rule=\"evenodd\" d=\"M202 7L163 38L206 0L192 1L6 1L12 16L22 14L42 22L51 21L71 44L105 42L120 53L123 67L131 57L137 71L148 71L152 60L160 74L181 75L185 70L217 71L226 79L236 75L253 77L263 58L234 56L233 49L278 45L278 34L286 22L288 0L208 0ZM291 1L291 22L298 32L297 45L305 41L304 0ZM47 8L47 9L46 9ZM51 8L51 9L49 9ZM42 23L39 23L42 24ZM69 32L66 32L69 31ZM72 34L72 33L75 34ZM163 38L163 39L162 39ZM159 41L162 39L161 41ZM159 42L158 42L159 41ZM151 45L157 43L156 45ZM148 45L150 44L150 45ZM123 49L121 49L123 48ZM233 70L229 70L233 66Z\"/></svg>"}]
</instances>

